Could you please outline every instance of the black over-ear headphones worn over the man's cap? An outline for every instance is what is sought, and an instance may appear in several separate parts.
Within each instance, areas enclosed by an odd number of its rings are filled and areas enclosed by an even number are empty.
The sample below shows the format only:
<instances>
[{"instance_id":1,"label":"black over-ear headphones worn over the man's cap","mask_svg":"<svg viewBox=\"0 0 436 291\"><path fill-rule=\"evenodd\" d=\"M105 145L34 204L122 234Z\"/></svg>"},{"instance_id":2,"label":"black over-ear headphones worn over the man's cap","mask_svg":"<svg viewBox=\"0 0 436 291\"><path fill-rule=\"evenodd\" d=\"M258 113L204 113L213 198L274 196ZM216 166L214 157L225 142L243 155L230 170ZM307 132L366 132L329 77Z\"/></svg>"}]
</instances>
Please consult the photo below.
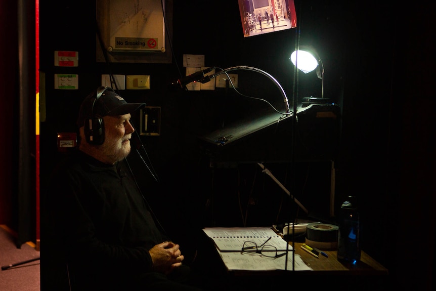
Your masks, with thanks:
<instances>
[{"instance_id":1,"label":"black over-ear headphones worn over the man's cap","mask_svg":"<svg viewBox=\"0 0 436 291\"><path fill-rule=\"evenodd\" d=\"M97 116L94 113L94 106L99 100L99 98L105 93L105 91L112 91L110 87L99 87L96 92L96 98L94 99L93 105L91 107L91 116L85 119L84 129L86 141L89 144L101 145L105 140L105 128L102 116Z\"/></svg>"}]
</instances>

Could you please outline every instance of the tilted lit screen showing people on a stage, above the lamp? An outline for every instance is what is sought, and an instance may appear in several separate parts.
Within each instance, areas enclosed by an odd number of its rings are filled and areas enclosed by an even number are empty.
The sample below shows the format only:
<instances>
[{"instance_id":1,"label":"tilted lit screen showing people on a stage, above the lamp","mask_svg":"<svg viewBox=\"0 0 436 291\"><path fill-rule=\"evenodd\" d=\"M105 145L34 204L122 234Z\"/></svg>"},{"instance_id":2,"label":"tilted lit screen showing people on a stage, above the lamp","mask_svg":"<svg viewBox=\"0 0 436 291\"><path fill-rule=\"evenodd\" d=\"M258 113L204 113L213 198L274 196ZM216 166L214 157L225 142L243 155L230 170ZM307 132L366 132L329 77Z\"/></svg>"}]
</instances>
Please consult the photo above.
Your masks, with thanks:
<instances>
[{"instance_id":1,"label":"tilted lit screen showing people on a stage, above the lamp","mask_svg":"<svg viewBox=\"0 0 436 291\"><path fill-rule=\"evenodd\" d=\"M297 27L294 0L238 0L244 37Z\"/></svg>"}]
</instances>

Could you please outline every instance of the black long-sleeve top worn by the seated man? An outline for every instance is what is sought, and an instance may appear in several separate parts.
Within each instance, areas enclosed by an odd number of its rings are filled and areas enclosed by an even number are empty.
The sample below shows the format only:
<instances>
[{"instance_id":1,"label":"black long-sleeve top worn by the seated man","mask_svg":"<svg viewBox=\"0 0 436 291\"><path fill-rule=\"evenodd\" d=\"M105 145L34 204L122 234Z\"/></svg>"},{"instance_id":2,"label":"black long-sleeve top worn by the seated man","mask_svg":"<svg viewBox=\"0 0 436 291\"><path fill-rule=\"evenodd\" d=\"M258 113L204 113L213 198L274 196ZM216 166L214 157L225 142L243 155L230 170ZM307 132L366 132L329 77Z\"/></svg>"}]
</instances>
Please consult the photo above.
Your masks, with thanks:
<instances>
[{"instance_id":1,"label":"black long-sleeve top worn by the seated man","mask_svg":"<svg viewBox=\"0 0 436 291\"><path fill-rule=\"evenodd\" d=\"M148 250L167 237L125 160L107 165L77 151L59 165L50 184L56 237L66 244L77 274L113 284L151 270Z\"/></svg>"}]
</instances>

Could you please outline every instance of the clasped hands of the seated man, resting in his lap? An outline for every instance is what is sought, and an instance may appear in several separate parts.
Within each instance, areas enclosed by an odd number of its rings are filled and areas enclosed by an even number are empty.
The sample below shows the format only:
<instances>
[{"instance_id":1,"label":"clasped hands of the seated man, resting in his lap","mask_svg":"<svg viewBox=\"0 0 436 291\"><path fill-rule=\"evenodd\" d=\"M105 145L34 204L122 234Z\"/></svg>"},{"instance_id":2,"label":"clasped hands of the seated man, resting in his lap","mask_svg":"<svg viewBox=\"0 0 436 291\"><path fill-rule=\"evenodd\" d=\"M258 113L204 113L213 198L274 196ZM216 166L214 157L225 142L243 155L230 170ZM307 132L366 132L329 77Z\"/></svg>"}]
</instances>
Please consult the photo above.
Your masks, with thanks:
<instances>
[{"instance_id":1,"label":"clasped hands of the seated man, resting in his lap","mask_svg":"<svg viewBox=\"0 0 436 291\"><path fill-rule=\"evenodd\" d=\"M153 261L153 270L163 274L169 274L174 268L182 265L185 257L180 251L179 244L165 241L153 246L150 251Z\"/></svg>"}]
</instances>

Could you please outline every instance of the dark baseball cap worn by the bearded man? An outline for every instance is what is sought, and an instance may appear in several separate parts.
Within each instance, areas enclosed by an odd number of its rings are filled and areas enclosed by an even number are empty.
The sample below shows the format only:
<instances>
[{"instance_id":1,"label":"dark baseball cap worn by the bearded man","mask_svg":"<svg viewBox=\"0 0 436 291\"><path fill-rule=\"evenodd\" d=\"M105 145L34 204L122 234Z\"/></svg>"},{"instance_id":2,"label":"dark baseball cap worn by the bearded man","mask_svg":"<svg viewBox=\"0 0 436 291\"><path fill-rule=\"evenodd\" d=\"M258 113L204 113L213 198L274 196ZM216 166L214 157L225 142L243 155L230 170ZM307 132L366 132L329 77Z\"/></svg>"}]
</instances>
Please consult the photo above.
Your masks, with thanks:
<instances>
[{"instance_id":1,"label":"dark baseball cap worn by the bearded man","mask_svg":"<svg viewBox=\"0 0 436 291\"><path fill-rule=\"evenodd\" d=\"M83 100L76 123L78 127L82 127L85 120L133 113L145 106L145 103L127 103L110 87L99 87Z\"/></svg>"}]
</instances>

